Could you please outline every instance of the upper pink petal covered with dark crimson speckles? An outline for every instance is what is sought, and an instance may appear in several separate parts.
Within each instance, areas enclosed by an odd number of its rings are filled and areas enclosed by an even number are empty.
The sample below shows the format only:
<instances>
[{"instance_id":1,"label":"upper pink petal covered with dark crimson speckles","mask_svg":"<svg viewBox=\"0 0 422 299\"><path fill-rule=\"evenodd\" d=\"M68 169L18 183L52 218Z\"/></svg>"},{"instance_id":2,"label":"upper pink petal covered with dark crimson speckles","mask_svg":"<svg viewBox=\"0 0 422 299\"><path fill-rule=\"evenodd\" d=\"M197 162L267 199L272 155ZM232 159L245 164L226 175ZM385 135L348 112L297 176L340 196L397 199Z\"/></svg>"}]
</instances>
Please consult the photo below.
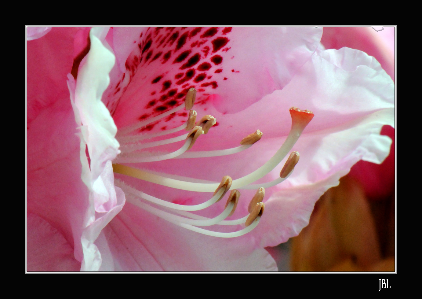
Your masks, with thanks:
<instances>
[{"instance_id":1,"label":"upper pink petal covered with dark crimson speckles","mask_svg":"<svg viewBox=\"0 0 422 299\"><path fill-rule=\"evenodd\" d=\"M122 127L173 108L196 87L195 109L218 94L212 99L219 111L241 111L283 88L315 51L320 36L315 28L151 28L127 60L130 79L125 75L123 87L121 82L114 87L120 95L130 80L122 98L106 105Z\"/></svg>"}]
</instances>

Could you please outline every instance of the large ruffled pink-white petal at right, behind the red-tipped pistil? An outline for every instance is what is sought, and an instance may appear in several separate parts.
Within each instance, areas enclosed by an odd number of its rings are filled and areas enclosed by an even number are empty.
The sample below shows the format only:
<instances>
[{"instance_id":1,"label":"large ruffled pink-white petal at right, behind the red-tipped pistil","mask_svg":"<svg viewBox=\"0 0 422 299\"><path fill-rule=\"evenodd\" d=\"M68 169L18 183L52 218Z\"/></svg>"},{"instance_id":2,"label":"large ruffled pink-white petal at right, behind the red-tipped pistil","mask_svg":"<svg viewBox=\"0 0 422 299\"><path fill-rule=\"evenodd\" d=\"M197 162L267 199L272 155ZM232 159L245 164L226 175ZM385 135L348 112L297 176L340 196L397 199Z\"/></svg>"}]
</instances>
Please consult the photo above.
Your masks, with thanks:
<instances>
[{"instance_id":1,"label":"large ruffled pink-white petal at right, behind the red-tipped pistil","mask_svg":"<svg viewBox=\"0 0 422 299\"><path fill-rule=\"evenodd\" d=\"M314 55L283 90L237 114L224 115L209 104L204 106L219 125L201 136L192 150L234 147L256 129L264 132L262 139L251 149L231 156L173 159L143 163L141 167L216 182L224 175L236 179L262 166L281 146L290 128L289 107L314 111L314 119L292 149L301 155L295 172L286 182L268 189L268 196L273 195L265 200L267 207L260 225L250 233L259 248L277 245L298 234L307 225L319 196L337 185L338 179L358 160L381 163L385 159L391 140L379 136L379 132L384 124L394 122L394 84L373 57L344 48ZM280 169L281 165L260 181L275 179ZM210 197L208 193L171 190L117 177L143 192L172 202L196 204ZM234 219L246 215L253 193L241 190L242 199ZM224 204L208 208L203 215L217 215ZM245 243L249 237L236 239Z\"/></svg>"}]
</instances>

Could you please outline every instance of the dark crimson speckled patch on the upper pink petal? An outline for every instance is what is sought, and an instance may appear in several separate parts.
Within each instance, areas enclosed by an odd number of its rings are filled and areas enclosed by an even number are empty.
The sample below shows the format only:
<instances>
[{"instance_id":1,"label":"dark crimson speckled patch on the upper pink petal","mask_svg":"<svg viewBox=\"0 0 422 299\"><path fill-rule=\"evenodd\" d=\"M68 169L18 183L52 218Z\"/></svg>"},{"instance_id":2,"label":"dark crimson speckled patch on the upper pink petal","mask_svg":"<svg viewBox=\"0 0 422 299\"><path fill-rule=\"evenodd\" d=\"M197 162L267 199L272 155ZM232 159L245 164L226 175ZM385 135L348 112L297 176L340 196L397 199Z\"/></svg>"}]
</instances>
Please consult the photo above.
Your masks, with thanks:
<instances>
[{"instance_id":1,"label":"dark crimson speckled patch on the upper pink petal","mask_svg":"<svg viewBox=\"0 0 422 299\"><path fill-rule=\"evenodd\" d=\"M231 32L232 27L157 27L141 33L137 48L125 64L130 84L146 84L144 80L150 84L143 87L147 96L140 99L143 106L137 106L140 109L138 119L146 120L180 105L191 87L198 92L195 105L206 103L208 95L218 88L219 81L227 80L231 74L239 72L225 71L222 64L223 52L231 49ZM142 75L133 79L138 71L147 75L145 79L141 78ZM123 80L124 76L116 84L115 91ZM184 112L177 116L186 117L187 114ZM152 130L157 123L174 122L175 117L176 114L170 114L141 130ZM160 126L162 130L165 128L166 125Z\"/></svg>"}]
</instances>

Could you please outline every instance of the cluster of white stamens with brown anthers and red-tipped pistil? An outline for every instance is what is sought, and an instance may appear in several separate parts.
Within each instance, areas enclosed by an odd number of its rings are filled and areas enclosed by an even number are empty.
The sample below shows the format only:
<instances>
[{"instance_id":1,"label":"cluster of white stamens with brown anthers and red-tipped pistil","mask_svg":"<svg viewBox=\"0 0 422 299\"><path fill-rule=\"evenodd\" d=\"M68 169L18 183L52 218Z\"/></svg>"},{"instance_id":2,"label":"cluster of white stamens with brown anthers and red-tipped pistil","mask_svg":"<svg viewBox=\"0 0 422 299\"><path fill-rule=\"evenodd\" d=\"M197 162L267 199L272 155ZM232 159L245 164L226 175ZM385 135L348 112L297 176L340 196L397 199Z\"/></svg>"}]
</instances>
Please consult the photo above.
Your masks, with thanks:
<instances>
[{"instance_id":1,"label":"cluster of white stamens with brown anthers and red-tipped pistil","mask_svg":"<svg viewBox=\"0 0 422 299\"><path fill-rule=\"evenodd\" d=\"M127 201L171 223L210 236L218 236L224 238L241 236L243 234L248 233L249 231L252 231L252 229L254 229L258 225L260 217L262 216L265 207L265 204L262 202L265 195L265 188L272 187L283 182L289 177L290 174L292 174L295 165L299 161L299 153L292 152L289 155L289 158L281 169L280 177L278 179L262 184L253 184L253 182L264 177L266 174L276 168L279 163L281 163L281 160L283 160L289 154L290 150L292 150L292 147L299 139L300 134L303 132L306 125L308 125L308 123L312 120L314 114L312 113L312 111L309 110L300 110L296 107L290 108L289 111L292 117L292 127L290 129L289 135L287 136L287 139L281 145L280 149L259 169L238 179L233 180L231 177L225 176L222 178L222 181L220 183L198 183L194 182L194 179L190 178L185 178L184 180L172 179L166 177L165 175L153 174L149 171L144 171L141 169L121 164L143 163L176 158L203 158L231 155L248 149L255 142L261 139L262 132L260 132L260 130L257 130L255 133L252 133L243 138L240 142L241 145L239 147L234 147L226 150L187 152L192 148L196 139L199 136L208 133L208 130L210 130L211 127L216 124L216 119L211 115L206 115L202 117L201 120L196 122L195 124L197 113L195 110L190 110L195 102L195 95L195 88L191 88L187 92L184 104L174 109L171 109L165 113L162 113L156 117L152 117L149 120L138 122L135 125L131 125L129 127L123 128L122 130L119 130L116 135L116 139L121 144L120 150L122 152L113 161L113 171L115 173L124 174L130 177L135 177L137 179L167 186L170 188L196 192L214 192L213 196L202 204L181 205L171 203L160 198L156 198L154 196L150 196L135 188L130 187L129 185L126 185L119 179L115 180L115 184L119 188L122 188L122 190L127 196ZM149 125L150 123L160 120L162 117L166 117L183 108L190 110L188 119L183 125L170 130L164 130L159 133L146 133L141 136L134 133L134 131L138 128ZM159 141L145 141L146 139L165 136L170 133L175 133L181 130L189 130L190 132L177 137L162 139ZM183 146L174 152L157 153L156 151L151 152L148 150L152 147L160 147L165 144L170 144L183 140L185 140ZM241 195L239 190L242 189L257 189L257 192L249 203L249 214L236 220L225 220L225 218L233 215L239 197ZM192 211L206 209L211 205L215 204L217 201L222 199L225 196L225 193L227 193L227 191L229 190L231 190L231 192L227 199L225 209L222 211L221 214L217 215L214 218L208 218L192 213ZM146 202L152 203L154 204L154 206L151 206ZM211 231L201 228L201 226L237 226L239 224L244 224L244 228L239 231L229 233Z\"/></svg>"}]
</instances>

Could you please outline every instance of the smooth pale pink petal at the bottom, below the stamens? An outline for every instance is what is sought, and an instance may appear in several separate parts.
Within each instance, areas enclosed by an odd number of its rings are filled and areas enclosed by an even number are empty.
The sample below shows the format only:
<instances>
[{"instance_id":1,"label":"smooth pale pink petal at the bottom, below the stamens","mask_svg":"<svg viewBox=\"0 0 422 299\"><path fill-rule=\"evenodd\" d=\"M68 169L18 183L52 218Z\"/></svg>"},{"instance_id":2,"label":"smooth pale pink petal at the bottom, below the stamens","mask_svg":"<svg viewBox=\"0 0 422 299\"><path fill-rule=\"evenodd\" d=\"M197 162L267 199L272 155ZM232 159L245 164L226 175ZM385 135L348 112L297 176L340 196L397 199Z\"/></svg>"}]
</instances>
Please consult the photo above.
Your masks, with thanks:
<instances>
[{"instance_id":1,"label":"smooth pale pink petal at the bottom, below the stamens","mask_svg":"<svg viewBox=\"0 0 422 299\"><path fill-rule=\"evenodd\" d=\"M253 242L204 236L126 204L104 228L116 271L276 271ZM249 236L250 238L252 236Z\"/></svg>"}]
</instances>

